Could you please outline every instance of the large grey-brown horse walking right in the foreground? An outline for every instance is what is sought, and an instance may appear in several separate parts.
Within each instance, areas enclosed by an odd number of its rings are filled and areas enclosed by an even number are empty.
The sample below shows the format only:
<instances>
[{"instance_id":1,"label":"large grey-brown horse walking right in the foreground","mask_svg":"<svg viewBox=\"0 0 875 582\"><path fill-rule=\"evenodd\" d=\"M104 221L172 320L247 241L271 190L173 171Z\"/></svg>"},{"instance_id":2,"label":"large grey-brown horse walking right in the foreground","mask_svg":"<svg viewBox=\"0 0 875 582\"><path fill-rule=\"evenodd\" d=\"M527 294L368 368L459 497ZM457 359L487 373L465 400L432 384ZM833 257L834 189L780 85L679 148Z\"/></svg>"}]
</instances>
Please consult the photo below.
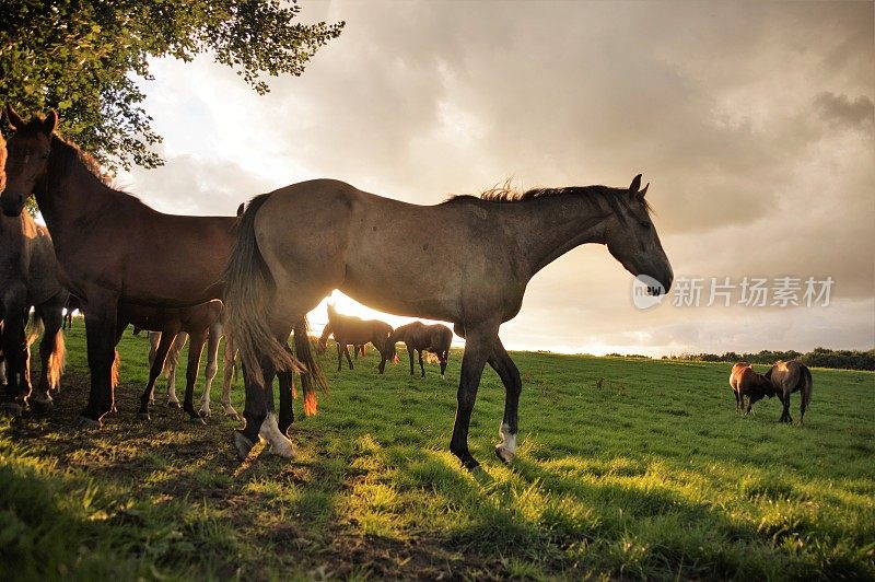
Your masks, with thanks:
<instances>
[{"instance_id":1,"label":"large grey-brown horse walking right in the foreground","mask_svg":"<svg viewBox=\"0 0 875 582\"><path fill-rule=\"evenodd\" d=\"M259 386L270 383L275 366L295 365L283 338L339 289L384 312L455 324L466 346L450 450L465 467L478 465L468 451L468 426L489 363L506 392L495 453L510 462L522 384L499 326L520 311L536 272L584 243L607 245L632 275L653 277L666 291L674 276L645 191L635 176L629 188L491 193L418 206L317 179L256 197L243 214L225 288L229 324L247 371L244 417L260 424L268 410ZM411 252L386 253L400 247ZM247 422L235 436L238 454L256 435Z\"/></svg>"}]
</instances>

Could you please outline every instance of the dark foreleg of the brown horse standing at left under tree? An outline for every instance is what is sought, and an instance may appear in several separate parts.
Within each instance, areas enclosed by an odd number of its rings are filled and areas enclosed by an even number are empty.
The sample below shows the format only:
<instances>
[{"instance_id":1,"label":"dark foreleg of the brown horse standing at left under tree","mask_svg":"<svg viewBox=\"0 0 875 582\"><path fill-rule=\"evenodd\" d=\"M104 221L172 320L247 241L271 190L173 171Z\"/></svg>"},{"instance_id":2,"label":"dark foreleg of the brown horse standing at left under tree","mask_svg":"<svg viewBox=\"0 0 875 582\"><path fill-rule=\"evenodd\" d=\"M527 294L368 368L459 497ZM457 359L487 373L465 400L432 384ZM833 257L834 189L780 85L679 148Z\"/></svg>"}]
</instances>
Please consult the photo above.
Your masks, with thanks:
<instances>
[{"instance_id":1,"label":"dark foreleg of the brown horse standing at left under tree","mask_svg":"<svg viewBox=\"0 0 875 582\"><path fill-rule=\"evenodd\" d=\"M116 359L118 295L112 291L92 289L85 296L91 392L89 403L77 423L81 428L100 428L103 417L115 405L113 363Z\"/></svg>"}]
</instances>

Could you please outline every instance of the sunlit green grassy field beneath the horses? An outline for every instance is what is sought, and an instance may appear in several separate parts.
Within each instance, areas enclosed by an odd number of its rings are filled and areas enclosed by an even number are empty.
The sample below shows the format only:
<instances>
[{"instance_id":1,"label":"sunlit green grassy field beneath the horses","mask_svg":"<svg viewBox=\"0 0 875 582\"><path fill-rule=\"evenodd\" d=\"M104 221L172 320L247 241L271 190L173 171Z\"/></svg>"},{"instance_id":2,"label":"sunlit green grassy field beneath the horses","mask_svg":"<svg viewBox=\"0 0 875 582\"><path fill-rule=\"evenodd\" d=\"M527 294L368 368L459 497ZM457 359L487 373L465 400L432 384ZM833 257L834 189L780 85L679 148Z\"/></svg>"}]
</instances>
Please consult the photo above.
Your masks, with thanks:
<instances>
[{"instance_id":1,"label":"sunlit green grassy field beneath the horses","mask_svg":"<svg viewBox=\"0 0 875 582\"><path fill-rule=\"evenodd\" d=\"M257 445L240 464L222 416L141 421L147 342L130 334L118 414L74 431L83 336L80 321L52 416L0 420L2 580L875 578L873 373L813 370L800 427L775 422L777 399L736 416L727 364L515 353L517 458L492 454L504 391L488 370L472 476L447 451L455 380L404 361L378 376L373 351L340 373L328 352L294 462Z\"/></svg>"}]
</instances>

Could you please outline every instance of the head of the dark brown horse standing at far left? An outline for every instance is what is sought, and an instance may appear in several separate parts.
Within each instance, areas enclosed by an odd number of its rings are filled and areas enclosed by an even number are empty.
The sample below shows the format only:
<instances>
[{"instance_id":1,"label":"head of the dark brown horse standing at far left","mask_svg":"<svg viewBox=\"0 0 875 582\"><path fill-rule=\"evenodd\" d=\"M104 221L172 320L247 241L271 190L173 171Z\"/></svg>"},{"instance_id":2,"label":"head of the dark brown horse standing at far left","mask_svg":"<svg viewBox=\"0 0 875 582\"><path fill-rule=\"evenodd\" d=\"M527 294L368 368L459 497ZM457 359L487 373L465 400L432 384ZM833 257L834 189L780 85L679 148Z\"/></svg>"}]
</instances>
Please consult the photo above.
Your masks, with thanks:
<instances>
[{"instance_id":1,"label":"head of the dark brown horse standing at far left","mask_svg":"<svg viewBox=\"0 0 875 582\"><path fill-rule=\"evenodd\" d=\"M3 214L18 217L36 184L46 175L58 114L50 112L45 119L35 116L25 123L11 105L7 105L5 117L15 133L7 144L7 183L0 195L0 206Z\"/></svg>"}]
</instances>

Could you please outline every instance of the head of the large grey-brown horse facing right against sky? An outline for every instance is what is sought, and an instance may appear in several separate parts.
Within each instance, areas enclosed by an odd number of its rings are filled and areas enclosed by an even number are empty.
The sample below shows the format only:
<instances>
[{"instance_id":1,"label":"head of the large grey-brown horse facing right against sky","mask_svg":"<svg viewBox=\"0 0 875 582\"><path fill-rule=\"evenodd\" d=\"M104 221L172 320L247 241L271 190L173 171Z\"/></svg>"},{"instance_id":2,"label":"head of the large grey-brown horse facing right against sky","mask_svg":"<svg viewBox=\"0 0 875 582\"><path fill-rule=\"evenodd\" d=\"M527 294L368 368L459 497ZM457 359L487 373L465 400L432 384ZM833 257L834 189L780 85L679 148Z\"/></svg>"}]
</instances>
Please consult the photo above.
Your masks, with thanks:
<instances>
[{"instance_id":1,"label":"head of the large grey-brown horse facing right against sky","mask_svg":"<svg viewBox=\"0 0 875 582\"><path fill-rule=\"evenodd\" d=\"M648 184L650 186L650 184ZM614 258L634 275L646 275L655 279L663 289L653 290L655 294L670 289L675 278L668 257L665 256L660 235L650 216L650 206L644 199L648 186L641 189L641 174L634 177L628 194L621 194L619 212L610 219L606 229L606 243Z\"/></svg>"}]
</instances>

